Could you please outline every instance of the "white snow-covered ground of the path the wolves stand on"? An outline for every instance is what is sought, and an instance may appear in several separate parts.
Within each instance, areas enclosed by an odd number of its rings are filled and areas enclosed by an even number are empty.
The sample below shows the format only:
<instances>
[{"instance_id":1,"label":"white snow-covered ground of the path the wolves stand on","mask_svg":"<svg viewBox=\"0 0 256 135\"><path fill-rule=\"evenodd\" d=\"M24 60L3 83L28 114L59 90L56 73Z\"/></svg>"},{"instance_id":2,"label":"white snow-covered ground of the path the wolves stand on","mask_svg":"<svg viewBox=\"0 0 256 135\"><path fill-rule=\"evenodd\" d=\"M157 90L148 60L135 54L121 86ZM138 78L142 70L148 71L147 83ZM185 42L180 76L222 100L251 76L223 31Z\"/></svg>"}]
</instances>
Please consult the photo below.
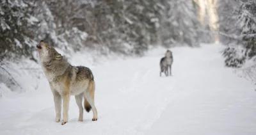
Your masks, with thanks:
<instances>
[{"instance_id":1,"label":"white snow-covered ground of the path the wolves stand on","mask_svg":"<svg viewBox=\"0 0 256 135\"><path fill-rule=\"evenodd\" d=\"M95 75L98 121L92 122L90 112L84 122L77 122L73 97L69 122L54 122L47 80L28 78L33 84L23 85L37 90L0 99L0 134L256 134L254 86L224 67L221 49L172 49L172 77L159 77L164 49L143 58L103 59L96 65L77 54L71 63L88 66Z\"/></svg>"}]
</instances>

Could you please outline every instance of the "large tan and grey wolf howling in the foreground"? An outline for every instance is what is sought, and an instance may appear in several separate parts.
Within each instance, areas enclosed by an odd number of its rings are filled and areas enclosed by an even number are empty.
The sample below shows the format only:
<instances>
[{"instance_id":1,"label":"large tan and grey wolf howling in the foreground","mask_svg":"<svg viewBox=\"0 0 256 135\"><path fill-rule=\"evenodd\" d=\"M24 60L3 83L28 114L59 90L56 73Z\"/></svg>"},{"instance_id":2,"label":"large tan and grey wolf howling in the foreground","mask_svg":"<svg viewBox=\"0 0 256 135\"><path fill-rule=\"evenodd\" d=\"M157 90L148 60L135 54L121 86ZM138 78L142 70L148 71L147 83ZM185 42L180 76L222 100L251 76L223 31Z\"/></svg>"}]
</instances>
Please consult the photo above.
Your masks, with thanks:
<instances>
[{"instance_id":1,"label":"large tan and grey wolf howling in the foreground","mask_svg":"<svg viewBox=\"0 0 256 135\"><path fill-rule=\"evenodd\" d=\"M87 67L74 67L63 58L53 47L43 40L36 45L40 63L47 77L54 98L56 122L61 118L61 99L63 100L63 122L68 122L70 95L75 95L79 107L79 121L83 121L84 109L93 111L93 121L97 120L97 109L94 105L95 82L92 71Z\"/></svg>"}]
</instances>

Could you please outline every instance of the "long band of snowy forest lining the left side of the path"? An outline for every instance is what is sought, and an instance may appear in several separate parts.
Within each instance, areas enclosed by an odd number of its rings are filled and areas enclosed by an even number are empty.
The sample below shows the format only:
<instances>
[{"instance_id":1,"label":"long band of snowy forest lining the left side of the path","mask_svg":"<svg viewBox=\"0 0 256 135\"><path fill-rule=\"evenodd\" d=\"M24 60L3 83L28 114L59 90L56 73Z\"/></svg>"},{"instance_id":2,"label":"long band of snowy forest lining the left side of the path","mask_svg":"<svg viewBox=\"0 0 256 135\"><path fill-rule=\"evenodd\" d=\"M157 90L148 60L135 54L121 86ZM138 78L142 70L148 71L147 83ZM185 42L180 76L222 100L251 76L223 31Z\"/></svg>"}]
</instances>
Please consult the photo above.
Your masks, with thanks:
<instances>
[{"instance_id":1,"label":"long band of snowy forest lining the left side of the path","mask_svg":"<svg viewBox=\"0 0 256 135\"><path fill-rule=\"evenodd\" d=\"M4 0L0 15L2 58L31 55L40 40L65 51L90 47L124 54L199 41L193 0Z\"/></svg>"}]
</instances>

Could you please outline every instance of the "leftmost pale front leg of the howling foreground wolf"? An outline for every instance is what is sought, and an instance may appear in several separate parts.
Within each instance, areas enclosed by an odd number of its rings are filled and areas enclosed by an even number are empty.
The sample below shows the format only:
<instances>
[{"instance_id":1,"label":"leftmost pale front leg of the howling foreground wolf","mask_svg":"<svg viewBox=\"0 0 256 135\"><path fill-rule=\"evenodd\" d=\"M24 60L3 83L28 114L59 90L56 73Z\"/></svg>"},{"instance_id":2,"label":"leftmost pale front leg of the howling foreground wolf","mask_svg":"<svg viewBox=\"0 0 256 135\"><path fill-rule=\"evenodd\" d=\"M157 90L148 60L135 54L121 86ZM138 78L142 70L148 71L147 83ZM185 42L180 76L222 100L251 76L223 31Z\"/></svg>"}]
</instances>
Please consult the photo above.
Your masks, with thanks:
<instances>
[{"instance_id":1,"label":"leftmost pale front leg of the howling foreground wolf","mask_svg":"<svg viewBox=\"0 0 256 135\"><path fill-rule=\"evenodd\" d=\"M54 105L55 105L55 112L56 112L56 122L60 122L61 117L61 96L57 91L52 91L53 99L54 99Z\"/></svg>"}]
</instances>

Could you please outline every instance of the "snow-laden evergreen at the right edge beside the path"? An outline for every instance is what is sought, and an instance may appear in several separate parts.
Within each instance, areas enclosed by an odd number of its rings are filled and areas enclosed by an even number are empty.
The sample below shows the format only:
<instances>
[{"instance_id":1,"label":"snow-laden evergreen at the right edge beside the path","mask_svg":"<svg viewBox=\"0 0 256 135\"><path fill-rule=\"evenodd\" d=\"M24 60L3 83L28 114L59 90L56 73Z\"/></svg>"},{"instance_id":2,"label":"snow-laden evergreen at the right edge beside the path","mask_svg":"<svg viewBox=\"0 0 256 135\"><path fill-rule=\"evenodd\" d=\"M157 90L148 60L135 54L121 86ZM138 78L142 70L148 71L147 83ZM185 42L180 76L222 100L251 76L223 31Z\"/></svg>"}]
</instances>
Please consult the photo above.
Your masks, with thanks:
<instances>
[{"instance_id":1,"label":"snow-laden evergreen at the right edge beside the path","mask_svg":"<svg viewBox=\"0 0 256 135\"><path fill-rule=\"evenodd\" d=\"M230 44L223 52L225 63L230 67L241 67L246 60L256 55L256 1L240 0L221 4L220 30L225 33L222 41Z\"/></svg>"}]
</instances>

